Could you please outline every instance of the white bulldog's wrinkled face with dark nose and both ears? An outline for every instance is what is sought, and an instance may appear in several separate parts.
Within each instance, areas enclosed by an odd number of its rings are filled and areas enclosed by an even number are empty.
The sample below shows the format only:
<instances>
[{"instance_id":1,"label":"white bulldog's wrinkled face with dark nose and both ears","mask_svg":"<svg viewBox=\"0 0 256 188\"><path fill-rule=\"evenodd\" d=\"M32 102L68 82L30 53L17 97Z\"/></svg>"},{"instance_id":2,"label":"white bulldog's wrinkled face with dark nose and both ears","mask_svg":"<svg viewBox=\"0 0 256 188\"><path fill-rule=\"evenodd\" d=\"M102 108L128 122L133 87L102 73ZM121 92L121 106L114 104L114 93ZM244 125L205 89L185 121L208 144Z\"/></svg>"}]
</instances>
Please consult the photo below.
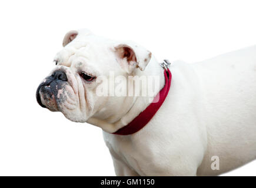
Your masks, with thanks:
<instances>
[{"instance_id":1,"label":"white bulldog's wrinkled face with dark nose and both ears","mask_svg":"<svg viewBox=\"0 0 256 188\"><path fill-rule=\"evenodd\" d=\"M111 118L125 108L125 97L98 96L99 76L134 75L143 71L151 52L131 42L117 42L92 35L87 30L68 32L64 48L54 58L56 67L36 90L44 108L62 112L74 122L89 117ZM114 121L114 119L112 119Z\"/></svg>"}]
</instances>

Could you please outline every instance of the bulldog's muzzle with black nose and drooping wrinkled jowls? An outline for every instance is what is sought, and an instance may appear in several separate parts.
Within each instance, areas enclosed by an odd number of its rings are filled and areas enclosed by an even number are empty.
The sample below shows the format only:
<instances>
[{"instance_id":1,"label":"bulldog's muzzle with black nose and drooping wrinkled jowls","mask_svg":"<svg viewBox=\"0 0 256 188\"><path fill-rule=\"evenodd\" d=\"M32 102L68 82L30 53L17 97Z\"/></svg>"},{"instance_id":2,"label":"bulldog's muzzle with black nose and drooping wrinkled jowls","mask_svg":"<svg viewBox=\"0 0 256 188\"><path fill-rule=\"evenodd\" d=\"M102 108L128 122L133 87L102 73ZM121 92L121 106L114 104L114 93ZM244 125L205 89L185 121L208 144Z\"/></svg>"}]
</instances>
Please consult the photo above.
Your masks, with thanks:
<instances>
[{"instance_id":1,"label":"bulldog's muzzle with black nose and drooping wrinkled jowls","mask_svg":"<svg viewBox=\"0 0 256 188\"><path fill-rule=\"evenodd\" d=\"M47 76L36 90L36 100L40 106L53 112L62 112L68 119L75 122L81 111L79 109L77 84L71 70L58 66Z\"/></svg>"}]
</instances>

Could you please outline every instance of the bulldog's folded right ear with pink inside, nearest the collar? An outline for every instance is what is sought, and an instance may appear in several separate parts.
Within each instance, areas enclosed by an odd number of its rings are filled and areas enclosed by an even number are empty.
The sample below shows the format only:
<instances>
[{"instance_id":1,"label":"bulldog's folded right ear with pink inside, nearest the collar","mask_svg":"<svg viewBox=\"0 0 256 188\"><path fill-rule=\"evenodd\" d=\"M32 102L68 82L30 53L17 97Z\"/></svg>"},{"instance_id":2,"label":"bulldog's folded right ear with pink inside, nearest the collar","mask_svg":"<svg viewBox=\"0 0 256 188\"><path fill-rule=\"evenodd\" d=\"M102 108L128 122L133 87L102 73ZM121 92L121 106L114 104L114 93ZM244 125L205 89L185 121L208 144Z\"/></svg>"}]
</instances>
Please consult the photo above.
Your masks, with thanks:
<instances>
[{"instance_id":1,"label":"bulldog's folded right ear with pink inside, nearest the collar","mask_svg":"<svg viewBox=\"0 0 256 188\"><path fill-rule=\"evenodd\" d=\"M117 61L128 73L135 68L145 70L151 59L151 52L139 45L121 43L114 48L117 55Z\"/></svg>"}]
</instances>

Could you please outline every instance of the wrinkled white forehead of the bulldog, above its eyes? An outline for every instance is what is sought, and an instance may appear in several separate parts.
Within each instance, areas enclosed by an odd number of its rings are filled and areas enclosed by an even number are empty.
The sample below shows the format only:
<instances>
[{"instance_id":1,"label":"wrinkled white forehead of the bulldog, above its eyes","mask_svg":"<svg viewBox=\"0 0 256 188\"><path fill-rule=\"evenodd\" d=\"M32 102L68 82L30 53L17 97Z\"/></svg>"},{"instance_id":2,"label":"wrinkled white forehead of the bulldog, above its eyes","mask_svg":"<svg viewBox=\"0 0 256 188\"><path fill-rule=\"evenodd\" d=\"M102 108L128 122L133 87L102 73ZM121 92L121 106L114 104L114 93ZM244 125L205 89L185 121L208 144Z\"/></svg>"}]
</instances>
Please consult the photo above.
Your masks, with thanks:
<instances>
[{"instance_id":1,"label":"wrinkled white forehead of the bulldog, above its eyes","mask_svg":"<svg viewBox=\"0 0 256 188\"><path fill-rule=\"evenodd\" d=\"M54 60L58 65L75 66L75 63L83 63L89 66L90 63L104 63L105 58L111 58L111 42L107 39L95 36L77 37L61 51Z\"/></svg>"}]
</instances>

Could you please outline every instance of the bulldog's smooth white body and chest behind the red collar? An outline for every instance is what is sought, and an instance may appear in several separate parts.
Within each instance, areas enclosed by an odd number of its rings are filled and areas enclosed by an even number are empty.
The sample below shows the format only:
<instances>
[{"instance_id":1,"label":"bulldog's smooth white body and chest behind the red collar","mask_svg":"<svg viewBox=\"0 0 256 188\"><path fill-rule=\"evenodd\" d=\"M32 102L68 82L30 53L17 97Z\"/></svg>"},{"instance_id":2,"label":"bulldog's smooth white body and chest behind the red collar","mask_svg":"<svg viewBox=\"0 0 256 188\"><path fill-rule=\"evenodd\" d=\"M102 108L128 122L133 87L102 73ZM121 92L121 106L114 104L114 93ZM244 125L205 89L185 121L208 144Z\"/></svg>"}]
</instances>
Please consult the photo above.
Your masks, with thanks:
<instances>
[{"instance_id":1,"label":"bulldog's smooth white body and chest behind the red collar","mask_svg":"<svg viewBox=\"0 0 256 188\"><path fill-rule=\"evenodd\" d=\"M128 136L104 132L117 174L212 176L254 160L256 46L169 69L169 95L147 126Z\"/></svg>"}]
</instances>

